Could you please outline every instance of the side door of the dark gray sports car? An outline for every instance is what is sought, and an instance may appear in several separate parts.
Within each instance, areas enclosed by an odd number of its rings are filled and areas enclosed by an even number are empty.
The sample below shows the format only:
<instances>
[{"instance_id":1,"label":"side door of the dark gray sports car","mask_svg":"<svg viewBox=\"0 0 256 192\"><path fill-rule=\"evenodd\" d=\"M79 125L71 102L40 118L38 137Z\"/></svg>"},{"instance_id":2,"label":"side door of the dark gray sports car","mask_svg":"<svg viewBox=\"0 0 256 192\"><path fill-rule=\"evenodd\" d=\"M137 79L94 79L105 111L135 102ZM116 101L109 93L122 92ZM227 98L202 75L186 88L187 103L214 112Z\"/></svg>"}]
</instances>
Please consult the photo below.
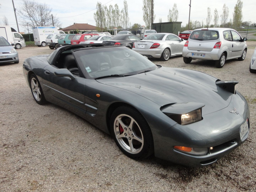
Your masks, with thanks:
<instances>
[{"instance_id":1,"label":"side door of the dark gray sports car","mask_svg":"<svg viewBox=\"0 0 256 192\"><path fill-rule=\"evenodd\" d=\"M75 75L70 77L56 76L54 72L59 69L54 65L47 65L42 72L43 86L46 89L48 100L85 118L85 84L86 79Z\"/></svg>"}]
</instances>

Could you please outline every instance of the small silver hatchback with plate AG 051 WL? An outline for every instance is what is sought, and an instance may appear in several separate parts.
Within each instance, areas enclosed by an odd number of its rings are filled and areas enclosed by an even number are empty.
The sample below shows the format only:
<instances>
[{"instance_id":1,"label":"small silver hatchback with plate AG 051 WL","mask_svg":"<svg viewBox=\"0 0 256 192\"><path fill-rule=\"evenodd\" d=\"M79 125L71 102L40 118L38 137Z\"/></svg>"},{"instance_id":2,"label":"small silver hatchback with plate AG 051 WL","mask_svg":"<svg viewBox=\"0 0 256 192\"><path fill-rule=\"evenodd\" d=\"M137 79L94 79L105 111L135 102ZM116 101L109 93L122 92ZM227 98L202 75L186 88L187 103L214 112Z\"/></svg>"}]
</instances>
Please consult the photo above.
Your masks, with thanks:
<instances>
[{"instance_id":1,"label":"small silver hatchback with plate AG 051 WL","mask_svg":"<svg viewBox=\"0 0 256 192\"><path fill-rule=\"evenodd\" d=\"M226 60L245 59L246 37L231 28L201 28L194 30L186 41L182 56L185 63L193 59L215 60L215 66L222 68Z\"/></svg>"}]
</instances>

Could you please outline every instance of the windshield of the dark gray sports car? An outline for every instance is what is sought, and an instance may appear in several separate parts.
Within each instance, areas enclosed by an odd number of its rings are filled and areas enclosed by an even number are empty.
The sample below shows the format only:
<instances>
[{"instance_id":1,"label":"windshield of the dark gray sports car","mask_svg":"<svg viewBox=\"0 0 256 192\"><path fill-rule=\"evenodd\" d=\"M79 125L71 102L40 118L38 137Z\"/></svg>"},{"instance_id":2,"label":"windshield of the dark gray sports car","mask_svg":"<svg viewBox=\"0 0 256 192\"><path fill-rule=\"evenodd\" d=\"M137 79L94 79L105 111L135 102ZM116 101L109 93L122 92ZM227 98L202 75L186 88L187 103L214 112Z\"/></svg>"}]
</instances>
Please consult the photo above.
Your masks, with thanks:
<instances>
[{"instance_id":1,"label":"windshield of the dark gray sports car","mask_svg":"<svg viewBox=\"0 0 256 192\"><path fill-rule=\"evenodd\" d=\"M126 47L82 49L73 53L83 66L86 76L92 79L135 75L158 68L144 56Z\"/></svg>"}]
</instances>

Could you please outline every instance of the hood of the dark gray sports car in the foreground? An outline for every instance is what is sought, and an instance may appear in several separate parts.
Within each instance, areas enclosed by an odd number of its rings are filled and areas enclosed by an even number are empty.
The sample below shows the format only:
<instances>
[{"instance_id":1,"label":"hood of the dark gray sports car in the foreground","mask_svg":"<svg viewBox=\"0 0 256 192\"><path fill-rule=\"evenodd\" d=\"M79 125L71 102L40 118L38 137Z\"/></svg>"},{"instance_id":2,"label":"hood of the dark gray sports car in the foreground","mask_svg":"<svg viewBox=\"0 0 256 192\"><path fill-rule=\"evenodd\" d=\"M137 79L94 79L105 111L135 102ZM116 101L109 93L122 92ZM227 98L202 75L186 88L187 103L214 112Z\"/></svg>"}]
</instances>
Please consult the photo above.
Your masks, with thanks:
<instances>
[{"instance_id":1,"label":"hood of the dark gray sports car in the foreground","mask_svg":"<svg viewBox=\"0 0 256 192\"><path fill-rule=\"evenodd\" d=\"M134 76L97 81L131 91L160 106L184 102L204 103L202 115L206 115L226 108L232 98L232 93L215 84L216 80L198 71L161 67Z\"/></svg>"}]
</instances>

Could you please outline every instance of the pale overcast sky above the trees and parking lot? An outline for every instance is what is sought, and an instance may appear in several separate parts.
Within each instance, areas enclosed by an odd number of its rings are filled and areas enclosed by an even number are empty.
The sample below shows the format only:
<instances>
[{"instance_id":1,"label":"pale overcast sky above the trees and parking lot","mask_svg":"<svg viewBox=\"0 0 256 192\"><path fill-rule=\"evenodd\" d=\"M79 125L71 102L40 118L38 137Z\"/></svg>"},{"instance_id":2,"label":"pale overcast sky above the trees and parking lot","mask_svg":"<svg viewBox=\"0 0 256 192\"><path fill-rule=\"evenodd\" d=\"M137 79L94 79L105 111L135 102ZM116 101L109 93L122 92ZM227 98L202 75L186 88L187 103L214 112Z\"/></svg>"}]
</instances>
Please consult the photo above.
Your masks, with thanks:
<instances>
[{"instance_id":1,"label":"pale overcast sky above the trees and parking lot","mask_svg":"<svg viewBox=\"0 0 256 192\"><path fill-rule=\"evenodd\" d=\"M73 23L88 23L90 25L96 25L93 19L93 13L96 12L97 2L101 2L106 6L112 4L118 5L120 11L124 7L123 0L34 0L39 3L46 3L52 7L52 14L59 18L62 23L62 28L73 25ZM19 9L22 4L22 0L13 0L15 8ZM211 8L212 20L210 24L213 24L213 13L217 9L219 14L219 24L220 24L220 15L222 14L222 7L224 4L229 9L228 21L233 19L234 7L237 0L214 0L214 1L202 1L202 0L191 0L191 12L190 20L191 21L200 21L206 23L207 17L207 8ZM188 23L189 16L189 3L190 0L180 0L180 1L167 1L167 0L154 0L155 7L154 12L156 14L155 23L159 22L159 18L162 18L162 22L167 22L167 16L169 9L172 10L173 4L177 4L177 9L179 11L178 21L182 22L182 26L185 26ZM12 0L0 0L0 23L3 24L3 17L6 16L9 22L9 25L17 30L15 15L13 11ZM143 12L142 5L143 0L127 0L128 4L128 13L130 22L133 25L134 23L139 23L140 25L145 25L143 21ZM256 23L256 2L255 0L243 0L243 21L252 21ZM19 16L18 24L19 24ZM20 31L25 31L25 29L19 25Z\"/></svg>"}]
</instances>

